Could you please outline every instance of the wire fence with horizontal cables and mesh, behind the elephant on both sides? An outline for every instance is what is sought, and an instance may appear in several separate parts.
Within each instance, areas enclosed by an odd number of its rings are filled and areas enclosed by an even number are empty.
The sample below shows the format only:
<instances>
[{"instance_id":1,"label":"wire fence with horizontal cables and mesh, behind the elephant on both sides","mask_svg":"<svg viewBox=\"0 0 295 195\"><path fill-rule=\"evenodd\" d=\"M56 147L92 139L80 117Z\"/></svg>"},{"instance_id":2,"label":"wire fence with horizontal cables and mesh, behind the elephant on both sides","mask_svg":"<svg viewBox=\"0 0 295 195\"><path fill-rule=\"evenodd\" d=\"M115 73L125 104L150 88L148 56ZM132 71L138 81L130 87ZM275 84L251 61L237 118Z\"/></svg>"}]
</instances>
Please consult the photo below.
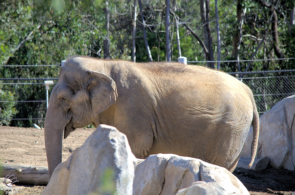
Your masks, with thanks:
<instances>
[{"instance_id":1,"label":"wire fence with horizontal cables and mesh, behind the elephant on both sides","mask_svg":"<svg viewBox=\"0 0 295 195\"><path fill-rule=\"evenodd\" d=\"M288 58L289 59L289 58ZM295 59L295 58L290 58ZM280 59L266 59L266 60L280 60ZM247 61L266 61L266 60L244 60ZM242 60L241 60L242 61ZM207 63L208 61L188 61L194 63ZM217 61L214 61L217 62ZM237 62L234 61L220 61L220 62ZM3 65L2 65L3 66ZM4 65L4 66L59 66L59 65ZM255 103L259 115L270 110L277 102L282 99L295 94L295 69L292 70L278 70L278 71L248 71L248 72L228 72L228 74L235 76L237 79L245 83L253 92ZM243 74L242 78L239 76ZM30 80L58 80L58 78L0 78L0 81L30 81ZM44 83L1 83L0 85L23 85L23 84L44 84ZM56 83L54 83L56 84ZM46 100L25 100L25 101L6 101L0 100L0 103L32 103L32 102L46 102ZM0 119L0 120L43 120L45 118L17 118L17 119Z\"/></svg>"}]
</instances>

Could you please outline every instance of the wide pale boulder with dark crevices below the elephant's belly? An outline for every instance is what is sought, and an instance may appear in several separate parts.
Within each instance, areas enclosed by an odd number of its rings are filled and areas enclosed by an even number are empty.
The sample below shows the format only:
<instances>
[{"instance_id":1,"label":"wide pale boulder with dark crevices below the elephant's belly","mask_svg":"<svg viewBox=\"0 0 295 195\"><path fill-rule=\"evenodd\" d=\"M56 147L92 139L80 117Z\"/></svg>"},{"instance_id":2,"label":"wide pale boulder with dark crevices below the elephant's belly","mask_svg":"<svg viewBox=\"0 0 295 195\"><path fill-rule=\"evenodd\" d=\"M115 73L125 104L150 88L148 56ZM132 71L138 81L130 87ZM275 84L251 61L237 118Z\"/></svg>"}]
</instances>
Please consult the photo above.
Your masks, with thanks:
<instances>
[{"instance_id":1,"label":"wide pale boulder with dark crevices below the elephant's belly","mask_svg":"<svg viewBox=\"0 0 295 195\"><path fill-rule=\"evenodd\" d=\"M139 163L133 195L174 195L195 181L204 181L222 194L249 195L240 180L227 169L175 154L150 155Z\"/></svg>"}]
</instances>

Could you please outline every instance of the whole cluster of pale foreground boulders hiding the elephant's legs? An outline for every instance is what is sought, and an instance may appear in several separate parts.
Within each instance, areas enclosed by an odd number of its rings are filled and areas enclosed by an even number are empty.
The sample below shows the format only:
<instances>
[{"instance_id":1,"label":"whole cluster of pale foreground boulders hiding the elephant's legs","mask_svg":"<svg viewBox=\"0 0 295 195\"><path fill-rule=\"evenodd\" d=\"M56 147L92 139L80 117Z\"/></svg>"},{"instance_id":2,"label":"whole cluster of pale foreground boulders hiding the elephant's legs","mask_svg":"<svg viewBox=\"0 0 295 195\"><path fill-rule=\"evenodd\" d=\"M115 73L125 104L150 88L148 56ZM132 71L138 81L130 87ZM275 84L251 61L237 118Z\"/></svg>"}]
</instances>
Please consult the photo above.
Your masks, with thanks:
<instances>
[{"instance_id":1,"label":"whole cluster of pale foreground boulders hiding the elephant's legs","mask_svg":"<svg viewBox=\"0 0 295 195\"><path fill-rule=\"evenodd\" d=\"M195 181L202 181L194 183ZM100 125L59 164L41 195L249 195L230 171L200 159L155 154L136 159L127 138Z\"/></svg>"}]
</instances>

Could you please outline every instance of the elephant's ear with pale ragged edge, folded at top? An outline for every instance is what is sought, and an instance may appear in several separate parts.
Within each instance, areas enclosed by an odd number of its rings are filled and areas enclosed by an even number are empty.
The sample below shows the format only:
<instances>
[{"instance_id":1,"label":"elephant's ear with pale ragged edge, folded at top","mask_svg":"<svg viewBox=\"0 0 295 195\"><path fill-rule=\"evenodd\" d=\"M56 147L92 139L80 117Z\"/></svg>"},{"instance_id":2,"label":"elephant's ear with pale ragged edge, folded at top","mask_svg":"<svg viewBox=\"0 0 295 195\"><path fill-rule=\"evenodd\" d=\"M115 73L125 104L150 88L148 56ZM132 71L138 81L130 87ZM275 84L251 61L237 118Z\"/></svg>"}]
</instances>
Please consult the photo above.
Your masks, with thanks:
<instances>
[{"instance_id":1,"label":"elephant's ear with pale ragged edge, folded at top","mask_svg":"<svg viewBox=\"0 0 295 195\"><path fill-rule=\"evenodd\" d=\"M116 104L117 86L115 81L106 74L88 71L91 79L88 82L87 89L90 94L90 101L94 117L109 106Z\"/></svg>"}]
</instances>

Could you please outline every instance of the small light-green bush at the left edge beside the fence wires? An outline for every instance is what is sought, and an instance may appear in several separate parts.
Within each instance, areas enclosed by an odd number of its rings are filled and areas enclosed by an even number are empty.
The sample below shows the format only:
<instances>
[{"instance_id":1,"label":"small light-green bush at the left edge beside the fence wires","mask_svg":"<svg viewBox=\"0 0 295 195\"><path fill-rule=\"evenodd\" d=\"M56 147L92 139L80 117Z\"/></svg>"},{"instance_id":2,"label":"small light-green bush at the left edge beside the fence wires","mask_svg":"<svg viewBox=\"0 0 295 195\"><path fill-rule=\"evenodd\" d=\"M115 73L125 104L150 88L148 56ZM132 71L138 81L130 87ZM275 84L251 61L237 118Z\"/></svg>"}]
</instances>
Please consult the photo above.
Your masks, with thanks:
<instances>
[{"instance_id":1,"label":"small light-green bush at the left edge beside the fence wires","mask_svg":"<svg viewBox=\"0 0 295 195\"><path fill-rule=\"evenodd\" d=\"M0 100L5 101L14 101L14 94L12 94L10 91L3 91L0 89ZM7 120L0 120L0 126L1 125L9 125L10 121L9 119L12 119L12 117L17 114L17 110L14 107L15 102L0 102L0 119L7 119Z\"/></svg>"}]
</instances>

